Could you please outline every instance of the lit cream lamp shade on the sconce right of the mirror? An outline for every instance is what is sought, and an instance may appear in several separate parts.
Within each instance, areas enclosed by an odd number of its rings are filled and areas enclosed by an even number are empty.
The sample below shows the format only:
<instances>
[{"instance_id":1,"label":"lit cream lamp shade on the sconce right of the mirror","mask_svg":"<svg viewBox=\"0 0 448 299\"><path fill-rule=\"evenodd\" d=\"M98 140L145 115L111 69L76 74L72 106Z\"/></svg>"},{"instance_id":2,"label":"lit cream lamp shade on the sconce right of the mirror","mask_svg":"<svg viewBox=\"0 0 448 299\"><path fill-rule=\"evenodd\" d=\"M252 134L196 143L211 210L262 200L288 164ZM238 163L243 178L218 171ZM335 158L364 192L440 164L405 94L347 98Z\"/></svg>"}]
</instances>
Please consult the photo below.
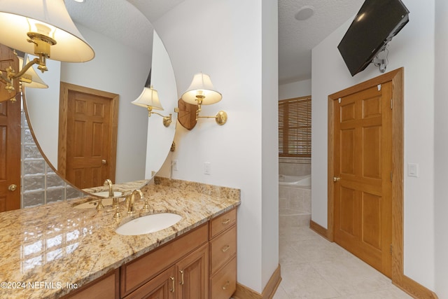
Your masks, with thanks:
<instances>
[{"instance_id":1,"label":"lit cream lamp shade on the sconce right of the mirror","mask_svg":"<svg viewBox=\"0 0 448 299\"><path fill-rule=\"evenodd\" d=\"M181 98L189 104L199 104L197 102L198 97L202 98L201 104L203 105L215 104L223 98L221 93L215 90L210 76L202 73L195 74L190 87Z\"/></svg>"}]
</instances>

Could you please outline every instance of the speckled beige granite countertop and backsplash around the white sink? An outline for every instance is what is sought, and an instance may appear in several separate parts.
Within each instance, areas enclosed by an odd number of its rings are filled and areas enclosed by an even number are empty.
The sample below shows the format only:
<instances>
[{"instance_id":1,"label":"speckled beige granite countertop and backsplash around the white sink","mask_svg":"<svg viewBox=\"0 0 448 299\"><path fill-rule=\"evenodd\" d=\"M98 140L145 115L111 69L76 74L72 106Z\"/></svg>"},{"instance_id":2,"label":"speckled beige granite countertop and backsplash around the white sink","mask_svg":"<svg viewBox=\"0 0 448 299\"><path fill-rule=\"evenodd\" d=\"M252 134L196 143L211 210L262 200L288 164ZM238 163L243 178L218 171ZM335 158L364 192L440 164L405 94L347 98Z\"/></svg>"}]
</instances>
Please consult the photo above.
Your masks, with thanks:
<instances>
[{"instance_id":1,"label":"speckled beige granite countertop and backsplash around the white sink","mask_svg":"<svg viewBox=\"0 0 448 299\"><path fill-rule=\"evenodd\" d=\"M113 219L108 208L73 209L85 199L0 213L0 297L58 298L106 272L147 253L240 204L238 189L156 179L141 189L136 214ZM146 214L182 216L170 228L148 235L123 236L119 225Z\"/></svg>"}]
</instances>

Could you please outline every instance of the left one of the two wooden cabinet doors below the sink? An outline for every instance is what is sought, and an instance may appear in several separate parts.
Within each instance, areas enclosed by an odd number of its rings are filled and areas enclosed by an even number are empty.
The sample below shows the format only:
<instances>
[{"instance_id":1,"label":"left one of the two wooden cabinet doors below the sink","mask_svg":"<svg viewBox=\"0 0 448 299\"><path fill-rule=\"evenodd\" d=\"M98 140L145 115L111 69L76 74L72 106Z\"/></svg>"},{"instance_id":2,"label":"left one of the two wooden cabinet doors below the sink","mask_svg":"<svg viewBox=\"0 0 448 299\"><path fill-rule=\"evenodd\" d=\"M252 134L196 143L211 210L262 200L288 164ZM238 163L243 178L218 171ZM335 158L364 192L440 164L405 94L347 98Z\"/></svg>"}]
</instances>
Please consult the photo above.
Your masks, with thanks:
<instances>
[{"instance_id":1,"label":"left one of the two wooden cabinet doors below the sink","mask_svg":"<svg viewBox=\"0 0 448 299\"><path fill-rule=\"evenodd\" d=\"M177 291L175 269L175 266L169 267L125 298L174 299L174 293Z\"/></svg>"}]
</instances>

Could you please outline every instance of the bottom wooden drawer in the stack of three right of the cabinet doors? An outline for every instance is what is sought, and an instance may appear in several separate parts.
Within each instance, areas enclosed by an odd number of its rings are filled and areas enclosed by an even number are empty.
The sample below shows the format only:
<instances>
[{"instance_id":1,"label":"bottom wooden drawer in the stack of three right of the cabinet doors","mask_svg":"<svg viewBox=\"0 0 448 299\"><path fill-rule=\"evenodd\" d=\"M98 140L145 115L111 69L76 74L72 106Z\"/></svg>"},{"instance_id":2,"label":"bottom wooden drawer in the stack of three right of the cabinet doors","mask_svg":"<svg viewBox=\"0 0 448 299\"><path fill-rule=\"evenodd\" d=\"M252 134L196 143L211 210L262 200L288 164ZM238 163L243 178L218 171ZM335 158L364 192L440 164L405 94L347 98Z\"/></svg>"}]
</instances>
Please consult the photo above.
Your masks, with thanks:
<instances>
[{"instance_id":1,"label":"bottom wooden drawer in the stack of three right of the cabinet doors","mask_svg":"<svg viewBox=\"0 0 448 299\"><path fill-rule=\"evenodd\" d=\"M237 289L237 257L235 256L210 279L210 298L229 299Z\"/></svg>"}]
</instances>

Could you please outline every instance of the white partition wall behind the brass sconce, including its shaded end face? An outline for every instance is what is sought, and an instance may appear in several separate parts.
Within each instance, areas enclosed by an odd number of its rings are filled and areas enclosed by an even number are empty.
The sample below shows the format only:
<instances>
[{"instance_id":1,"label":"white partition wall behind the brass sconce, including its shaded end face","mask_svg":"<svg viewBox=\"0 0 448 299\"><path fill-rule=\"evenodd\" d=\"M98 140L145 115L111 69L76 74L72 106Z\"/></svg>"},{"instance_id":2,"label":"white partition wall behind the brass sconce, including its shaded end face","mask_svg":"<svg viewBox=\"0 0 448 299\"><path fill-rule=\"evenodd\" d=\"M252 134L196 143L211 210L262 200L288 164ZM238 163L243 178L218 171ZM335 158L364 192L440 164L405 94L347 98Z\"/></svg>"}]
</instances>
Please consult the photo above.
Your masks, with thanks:
<instances>
[{"instance_id":1,"label":"white partition wall behind the brass sconce, including its shaded end face","mask_svg":"<svg viewBox=\"0 0 448 299\"><path fill-rule=\"evenodd\" d=\"M276 5L186 0L154 23L172 58L179 97L198 71L223 94L201 114L225 110L225 125L200 119L191 131L177 126L170 158L179 160L179 171L172 177L241 189L238 281L258 292L279 263L277 137L271 134L277 126ZM210 175L204 162L211 163Z\"/></svg>"}]
</instances>

